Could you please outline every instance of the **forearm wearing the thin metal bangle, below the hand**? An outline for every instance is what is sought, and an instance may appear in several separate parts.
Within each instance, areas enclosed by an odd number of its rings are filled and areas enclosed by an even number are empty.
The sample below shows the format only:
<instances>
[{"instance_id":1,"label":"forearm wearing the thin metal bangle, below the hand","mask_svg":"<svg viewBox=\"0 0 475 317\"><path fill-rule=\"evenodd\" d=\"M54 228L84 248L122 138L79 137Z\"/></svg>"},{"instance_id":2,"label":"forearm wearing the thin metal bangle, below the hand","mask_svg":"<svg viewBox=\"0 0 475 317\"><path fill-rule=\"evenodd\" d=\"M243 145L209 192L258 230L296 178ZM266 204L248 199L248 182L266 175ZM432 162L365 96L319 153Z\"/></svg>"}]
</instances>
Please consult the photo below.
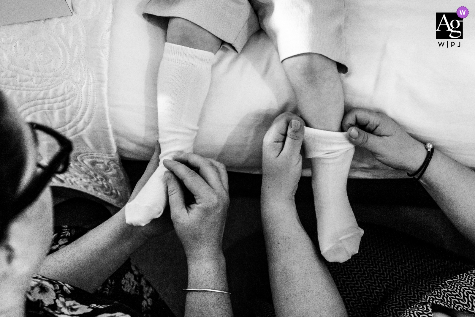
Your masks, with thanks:
<instances>
[{"instance_id":1,"label":"forearm wearing the thin metal bangle, below the hand","mask_svg":"<svg viewBox=\"0 0 475 317\"><path fill-rule=\"evenodd\" d=\"M204 257L188 257L188 288L228 291L226 260L222 252ZM232 317L230 295L211 291L188 291L185 317Z\"/></svg>"}]
</instances>

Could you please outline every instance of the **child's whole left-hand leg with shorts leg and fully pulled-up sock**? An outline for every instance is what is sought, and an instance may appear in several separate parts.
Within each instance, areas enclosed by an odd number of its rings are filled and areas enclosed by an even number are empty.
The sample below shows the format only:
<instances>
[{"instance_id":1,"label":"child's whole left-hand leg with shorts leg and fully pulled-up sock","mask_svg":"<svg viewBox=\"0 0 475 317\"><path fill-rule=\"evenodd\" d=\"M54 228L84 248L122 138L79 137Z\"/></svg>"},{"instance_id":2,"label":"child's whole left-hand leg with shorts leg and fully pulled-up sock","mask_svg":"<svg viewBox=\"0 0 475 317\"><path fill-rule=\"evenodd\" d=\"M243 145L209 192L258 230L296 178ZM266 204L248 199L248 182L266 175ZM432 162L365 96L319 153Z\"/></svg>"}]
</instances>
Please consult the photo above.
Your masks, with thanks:
<instances>
[{"instance_id":1,"label":"child's whole left-hand leg with shorts leg and fully pulled-up sock","mask_svg":"<svg viewBox=\"0 0 475 317\"><path fill-rule=\"evenodd\" d=\"M144 13L171 17L157 78L162 162L178 151L193 151L211 82L211 64L221 42L227 41L239 51L258 23L247 0L151 0ZM126 205L127 223L145 225L160 217L168 198L165 172L160 163L141 192Z\"/></svg>"}]
</instances>

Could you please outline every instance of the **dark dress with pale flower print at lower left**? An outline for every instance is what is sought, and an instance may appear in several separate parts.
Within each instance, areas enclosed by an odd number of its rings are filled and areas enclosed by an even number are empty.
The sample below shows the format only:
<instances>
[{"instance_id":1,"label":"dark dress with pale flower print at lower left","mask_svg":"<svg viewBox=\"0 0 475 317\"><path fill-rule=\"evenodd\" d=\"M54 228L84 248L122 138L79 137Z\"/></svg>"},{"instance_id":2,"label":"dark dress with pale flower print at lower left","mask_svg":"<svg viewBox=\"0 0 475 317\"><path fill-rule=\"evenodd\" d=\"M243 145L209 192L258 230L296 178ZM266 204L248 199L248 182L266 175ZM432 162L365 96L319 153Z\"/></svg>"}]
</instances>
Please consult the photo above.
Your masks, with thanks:
<instances>
[{"instance_id":1,"label":"dark dress with pale flower print at lower left","mask_svg":"<svg viewBox=\"0 0 475 317\"><path fill-rule=\"evenodd\" d=\"M64 248L87 230L57 226L50 253ZM174 317L152 285L127 260L93 294L35 275L27 293L27 316Z\"/></svg>"}]
</instances>

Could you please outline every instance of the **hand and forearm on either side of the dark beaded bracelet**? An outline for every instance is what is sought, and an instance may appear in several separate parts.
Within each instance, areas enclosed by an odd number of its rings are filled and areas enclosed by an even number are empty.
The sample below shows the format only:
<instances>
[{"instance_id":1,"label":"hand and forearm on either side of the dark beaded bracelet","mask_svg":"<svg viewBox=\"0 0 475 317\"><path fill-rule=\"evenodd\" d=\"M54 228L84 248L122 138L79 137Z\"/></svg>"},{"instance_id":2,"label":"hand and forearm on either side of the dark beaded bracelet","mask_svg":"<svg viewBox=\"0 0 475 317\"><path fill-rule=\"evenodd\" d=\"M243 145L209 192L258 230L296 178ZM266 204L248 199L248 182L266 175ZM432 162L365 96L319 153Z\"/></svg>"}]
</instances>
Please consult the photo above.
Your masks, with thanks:
<instances>
[{"instance_id":1,"label":"hand and forearm on either side of the dark beaded bracelet","mask_svg":"<svg viewBox=\"0 0 475 317\"><path fill-rule=\"evenodd\" d=\"M381 163L414 173L427 151L387 115L355 108L345 115L350 141L371 151ZM475 172L437 151L420 179L456 228L475 244Z\"/></svg>"}]
</instances>

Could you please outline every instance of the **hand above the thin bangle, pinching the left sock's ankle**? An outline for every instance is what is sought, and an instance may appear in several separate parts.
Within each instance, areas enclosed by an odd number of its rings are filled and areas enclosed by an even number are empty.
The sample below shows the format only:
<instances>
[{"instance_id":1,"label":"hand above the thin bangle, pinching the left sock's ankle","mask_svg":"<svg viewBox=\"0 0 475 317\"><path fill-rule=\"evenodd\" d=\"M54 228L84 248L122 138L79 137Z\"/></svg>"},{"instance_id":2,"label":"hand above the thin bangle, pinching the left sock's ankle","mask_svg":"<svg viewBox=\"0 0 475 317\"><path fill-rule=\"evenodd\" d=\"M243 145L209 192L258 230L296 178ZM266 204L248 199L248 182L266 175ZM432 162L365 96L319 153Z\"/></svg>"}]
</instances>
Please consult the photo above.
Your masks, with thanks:
<instances>
[{"instance_id":1,"label":"hand above the thin bangle, pinching the left sock's ankle","mask_svg":"<svg viewBox=\"0 0 475 317\"><path fill-rule=\"evenodd\" d=\"M222 255L229 204L226 167L191 153L178 154L173 161L163 160L163 164L169 170L166 177L171 220L187 259L215 259ZM193 194L194 203L186 205L180 181Z\"/></svg>"}]
</instances>

